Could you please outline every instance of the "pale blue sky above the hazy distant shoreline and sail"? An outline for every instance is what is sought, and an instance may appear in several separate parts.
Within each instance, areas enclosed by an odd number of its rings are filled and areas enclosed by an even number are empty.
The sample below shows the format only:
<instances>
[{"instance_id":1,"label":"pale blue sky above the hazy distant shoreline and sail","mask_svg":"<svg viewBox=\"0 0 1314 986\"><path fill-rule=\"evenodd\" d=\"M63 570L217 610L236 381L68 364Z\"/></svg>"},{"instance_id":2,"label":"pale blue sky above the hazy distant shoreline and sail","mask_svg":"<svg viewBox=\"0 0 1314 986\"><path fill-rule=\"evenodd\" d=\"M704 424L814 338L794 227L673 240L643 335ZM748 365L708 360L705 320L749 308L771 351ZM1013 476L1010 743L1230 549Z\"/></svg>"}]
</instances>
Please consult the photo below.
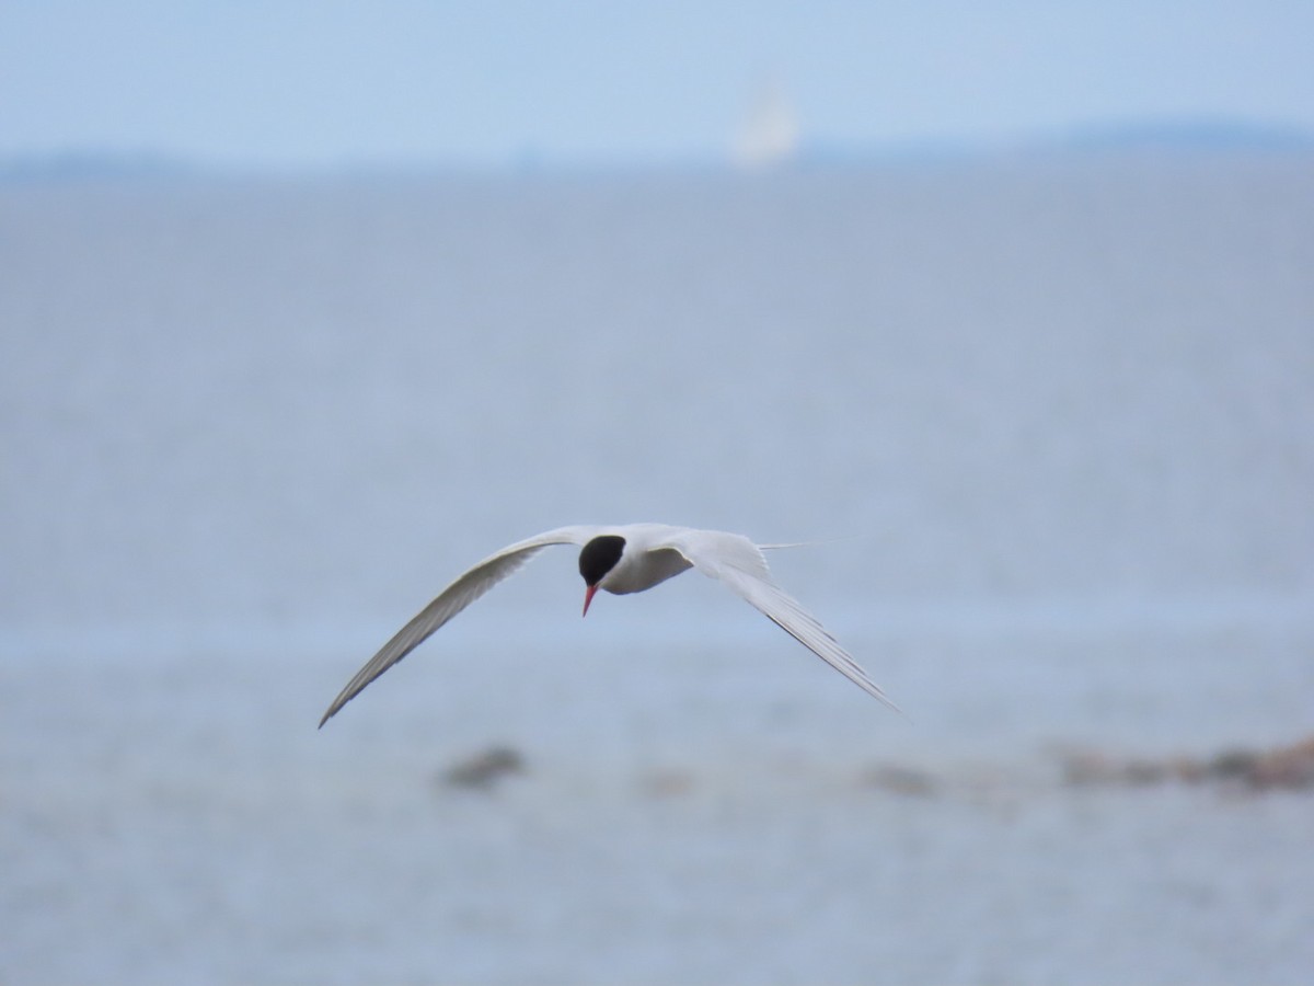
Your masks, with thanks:
<instances>
[{"instance_id":1,"label":"pale blue sky above the hazy distant shoreline and sail","mask_svg":"<svg viewBox=\"0 0 1314 986\"><path fill-rule=\"evenodd\" d=\"M1314 131L1309 0L0 0L0 158L720 159L1244 121Z\"/></svg>"}]
</instances>

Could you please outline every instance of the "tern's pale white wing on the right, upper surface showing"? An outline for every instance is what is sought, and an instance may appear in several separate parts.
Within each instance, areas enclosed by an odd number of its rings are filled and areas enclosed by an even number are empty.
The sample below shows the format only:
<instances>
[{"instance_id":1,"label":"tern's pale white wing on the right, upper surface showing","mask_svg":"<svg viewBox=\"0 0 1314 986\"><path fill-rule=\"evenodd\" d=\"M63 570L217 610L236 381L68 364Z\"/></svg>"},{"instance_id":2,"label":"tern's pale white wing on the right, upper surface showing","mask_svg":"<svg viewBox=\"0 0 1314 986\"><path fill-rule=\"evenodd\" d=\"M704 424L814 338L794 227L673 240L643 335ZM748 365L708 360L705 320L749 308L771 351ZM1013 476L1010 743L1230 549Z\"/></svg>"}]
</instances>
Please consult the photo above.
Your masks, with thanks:
<instances>
[{"instance_id":1,"label":"tern's pale white wing on the right, upper surface showing","mask_svg":"<svg viewBox=\"0 0 1314 986\"><path fill-rule=\"evenodd\" d=\"M748 538L724 531L682 531L665 547L678 551L703 575L724 582L869 695L900 711L816 617L771 580L766 559Z\"/></svg>"}]
</instances>

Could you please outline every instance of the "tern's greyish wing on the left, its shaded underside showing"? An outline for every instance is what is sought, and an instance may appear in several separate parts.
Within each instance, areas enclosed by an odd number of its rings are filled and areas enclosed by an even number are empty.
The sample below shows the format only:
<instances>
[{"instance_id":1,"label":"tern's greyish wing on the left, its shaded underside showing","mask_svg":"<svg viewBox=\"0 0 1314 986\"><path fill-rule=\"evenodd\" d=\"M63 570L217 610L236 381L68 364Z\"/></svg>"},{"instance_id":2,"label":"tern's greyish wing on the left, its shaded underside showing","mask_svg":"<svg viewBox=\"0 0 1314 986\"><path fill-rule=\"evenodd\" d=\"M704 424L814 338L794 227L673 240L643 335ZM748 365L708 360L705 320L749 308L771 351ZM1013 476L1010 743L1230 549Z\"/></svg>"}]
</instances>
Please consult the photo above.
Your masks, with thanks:
<instances>
[{"instance_id":1,"label":"tern's greyish wing on the left, its shaded underside showing","mask_svg":"<svg viewBox=\"0 0 1314 986\"><path fill-rule=\"evenodd\" d=\"M447 586L410 623L398 630L397 635L384 644L382 649L371 657L364 668L356 672L356 676L347 682L347 688L328 706L328 711L319 720L319 726L328 722L338 714L338 710L359 695L365 685L419 647L447 621L503 578L519 571L535 553L551 544L583 544L594 535L595 530L594 527L558 527L555 531L547 531L545 534L537 534L516 542L502 548L495 555L489 555Z\"/></svg>"}]
</instances>

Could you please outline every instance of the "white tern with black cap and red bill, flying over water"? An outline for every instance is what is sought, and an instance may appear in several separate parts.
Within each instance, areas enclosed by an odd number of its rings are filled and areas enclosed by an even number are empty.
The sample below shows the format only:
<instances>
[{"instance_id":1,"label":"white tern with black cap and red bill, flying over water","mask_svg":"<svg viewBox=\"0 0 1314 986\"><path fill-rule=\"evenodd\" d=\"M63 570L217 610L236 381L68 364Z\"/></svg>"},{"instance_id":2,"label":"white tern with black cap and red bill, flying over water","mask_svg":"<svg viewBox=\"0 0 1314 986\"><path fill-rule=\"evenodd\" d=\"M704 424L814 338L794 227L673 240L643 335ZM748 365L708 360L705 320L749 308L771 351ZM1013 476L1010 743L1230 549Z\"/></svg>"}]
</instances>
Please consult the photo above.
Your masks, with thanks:
<instances>
[{"instance_id":1,"label":"white tern with black cap and red bill, flying over water","mask_svg":"<svg viewBox=\"0 0 1314 986\"><path fill-rule=\"evenodd\" d=\"M771 580L762 550L788 546L758 546L741 534L728 531L702 531L664 523L631 523L619 527L557 527L489 555L447 586L356 672L328 706L319 726L328 722L371 681L414 651L447 621L516 572L535 553L552 544L583 546L579 551L579 575L587 586L583 596L585 615L589 614L589 603L593 602L598 589L606 589L615 596L639 593L681 572L696 568L710 578L724 582L731 592L766 614L767 619L863 692L897 710L897 706L867 677L825 627Z\"/></svg>"}]
</instances>

